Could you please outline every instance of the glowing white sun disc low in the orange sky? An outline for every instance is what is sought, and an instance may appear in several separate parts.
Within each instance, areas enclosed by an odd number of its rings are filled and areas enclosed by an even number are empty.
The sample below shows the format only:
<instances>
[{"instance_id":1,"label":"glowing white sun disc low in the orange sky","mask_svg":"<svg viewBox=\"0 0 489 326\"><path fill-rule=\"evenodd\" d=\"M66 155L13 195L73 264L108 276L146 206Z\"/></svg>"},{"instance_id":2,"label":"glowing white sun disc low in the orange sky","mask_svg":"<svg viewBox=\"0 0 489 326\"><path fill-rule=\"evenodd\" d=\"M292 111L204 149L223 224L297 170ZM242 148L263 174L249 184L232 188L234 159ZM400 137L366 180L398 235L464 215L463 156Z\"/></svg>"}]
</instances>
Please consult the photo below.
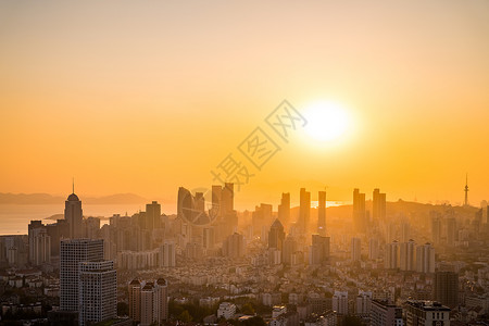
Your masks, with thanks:
<instances>
[{"instance_id":1,"label":"glowing white sun disc low in the orange sky","mask_svg":"<svg viewBox=\"0 0 489 326\"><path fill-rule=\"evenodd\" d=\"M305 133L316 141L337 141L348 131L350 117L336 102L317 102L305 109Z\"/></svg>"}]
</instances>

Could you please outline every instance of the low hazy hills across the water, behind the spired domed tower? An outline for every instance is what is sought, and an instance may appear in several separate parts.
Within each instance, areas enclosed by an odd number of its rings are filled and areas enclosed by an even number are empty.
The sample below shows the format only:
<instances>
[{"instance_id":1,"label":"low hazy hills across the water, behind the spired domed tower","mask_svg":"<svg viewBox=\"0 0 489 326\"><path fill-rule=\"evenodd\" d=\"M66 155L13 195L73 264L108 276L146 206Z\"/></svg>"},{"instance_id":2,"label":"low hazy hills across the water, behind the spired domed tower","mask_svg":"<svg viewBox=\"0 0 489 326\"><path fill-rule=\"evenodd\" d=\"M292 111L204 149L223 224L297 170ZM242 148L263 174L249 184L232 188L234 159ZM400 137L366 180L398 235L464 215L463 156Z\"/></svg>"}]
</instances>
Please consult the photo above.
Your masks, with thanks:
<instances>
[{"instance_id":1,"label":"low hazy hills across the water, behind the spired domed tower","mask_svg":"<svg viewBox=\"0 0 489 326\"><path fill-rule=\"evenodd\" d=\"M0 204L59 204L66 200L66 197L52 196L49 193L2 193L0 192ZM103 197L83 197L86 204L143 204L149 201L134 193L116 193Z\"/></svg>"}]
</instances>

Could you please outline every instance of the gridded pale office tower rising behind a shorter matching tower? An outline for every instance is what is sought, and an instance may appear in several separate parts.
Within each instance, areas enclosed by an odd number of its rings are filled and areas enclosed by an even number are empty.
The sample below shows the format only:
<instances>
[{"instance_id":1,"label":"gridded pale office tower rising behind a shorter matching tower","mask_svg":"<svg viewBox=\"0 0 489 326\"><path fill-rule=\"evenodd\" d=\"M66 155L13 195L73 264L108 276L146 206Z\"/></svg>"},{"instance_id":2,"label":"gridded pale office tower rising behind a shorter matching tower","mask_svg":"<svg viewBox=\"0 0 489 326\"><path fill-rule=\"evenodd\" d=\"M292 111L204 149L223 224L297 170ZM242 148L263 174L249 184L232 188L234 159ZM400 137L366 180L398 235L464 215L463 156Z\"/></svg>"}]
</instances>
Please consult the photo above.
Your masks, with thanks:
<instances>
[{"instance_id":1,"label":"gridded pale office tower rising behind a shorter matching tower","mask_svg":"<svg viewBox=\"0 0 489 326\"><path fill-rule=\"evenodd\" d=\"M103 240L71 239L61 241L60 310L78 311L78 264L103 260Z\"/></svg>"}]
</instances>

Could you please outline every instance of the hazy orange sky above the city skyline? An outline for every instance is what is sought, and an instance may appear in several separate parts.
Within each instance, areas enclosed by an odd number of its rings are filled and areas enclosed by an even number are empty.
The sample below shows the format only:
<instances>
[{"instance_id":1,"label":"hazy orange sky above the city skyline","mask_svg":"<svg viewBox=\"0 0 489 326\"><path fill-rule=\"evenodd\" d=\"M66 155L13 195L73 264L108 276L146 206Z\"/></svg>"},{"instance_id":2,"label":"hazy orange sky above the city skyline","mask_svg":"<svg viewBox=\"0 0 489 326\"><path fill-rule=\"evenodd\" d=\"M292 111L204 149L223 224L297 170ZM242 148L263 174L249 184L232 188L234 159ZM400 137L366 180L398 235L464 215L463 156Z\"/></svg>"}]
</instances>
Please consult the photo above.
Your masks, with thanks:
<instances>
[{"instance_id":1,"label":"hazy orange sky above the city skyline","mask_svg":"<svg viewBox=\"0 0 489 326\"><path fill-rule=\"evenodd\" d=\"M0 1L0 192L170 204L281 100L335 101L236 196L489 199L489 1ZM313 199L315 198L313 193ZM163 202L163 205L165 202Z\"/></svg>"}]
</instances>

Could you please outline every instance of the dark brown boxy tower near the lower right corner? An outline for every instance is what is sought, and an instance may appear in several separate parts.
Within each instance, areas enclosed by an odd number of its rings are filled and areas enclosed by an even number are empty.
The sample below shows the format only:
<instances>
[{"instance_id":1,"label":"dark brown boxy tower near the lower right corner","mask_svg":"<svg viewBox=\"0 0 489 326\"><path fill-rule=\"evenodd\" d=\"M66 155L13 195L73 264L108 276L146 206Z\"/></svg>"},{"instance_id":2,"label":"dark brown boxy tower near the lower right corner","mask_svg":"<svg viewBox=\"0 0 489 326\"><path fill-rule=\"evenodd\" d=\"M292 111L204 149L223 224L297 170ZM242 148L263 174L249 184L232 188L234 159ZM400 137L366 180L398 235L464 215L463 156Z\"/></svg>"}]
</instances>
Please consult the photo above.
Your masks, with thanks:
<instances>
[{"instance_id":1,"label":"dark brown boxy tower near the lower right corner","mask_svg":"<svg viewBox=\"0 0 489 326\"><path fill-rule=\"evenodd\" d=\"M432 288L432 300L449 308L459 304L459 274L455 272L437 272Z\"/></svg>"}]
</instances>

